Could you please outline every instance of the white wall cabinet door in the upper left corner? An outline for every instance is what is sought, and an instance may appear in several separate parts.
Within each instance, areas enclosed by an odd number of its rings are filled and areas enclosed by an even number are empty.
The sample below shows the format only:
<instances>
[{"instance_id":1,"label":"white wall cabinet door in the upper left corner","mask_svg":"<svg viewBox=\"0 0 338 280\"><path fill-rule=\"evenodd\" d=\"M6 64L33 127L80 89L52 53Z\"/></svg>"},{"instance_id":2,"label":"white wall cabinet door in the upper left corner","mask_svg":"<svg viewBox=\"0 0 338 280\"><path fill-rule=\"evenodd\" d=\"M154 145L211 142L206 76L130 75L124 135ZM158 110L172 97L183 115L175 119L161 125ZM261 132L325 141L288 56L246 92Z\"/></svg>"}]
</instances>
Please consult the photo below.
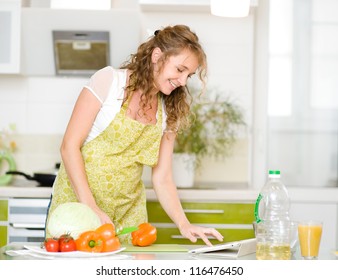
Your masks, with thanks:
<instances>
[{"instance_id":1,"label":"white wall cabinet door in the upper left corner","mask_svg":"<svg viewBox=\"0 0 338 280\"><path fill-rule=\"evenodd\" d=\"M20 0L0 0L0 74L20 72Z\"/></svg>"}]
</instances>

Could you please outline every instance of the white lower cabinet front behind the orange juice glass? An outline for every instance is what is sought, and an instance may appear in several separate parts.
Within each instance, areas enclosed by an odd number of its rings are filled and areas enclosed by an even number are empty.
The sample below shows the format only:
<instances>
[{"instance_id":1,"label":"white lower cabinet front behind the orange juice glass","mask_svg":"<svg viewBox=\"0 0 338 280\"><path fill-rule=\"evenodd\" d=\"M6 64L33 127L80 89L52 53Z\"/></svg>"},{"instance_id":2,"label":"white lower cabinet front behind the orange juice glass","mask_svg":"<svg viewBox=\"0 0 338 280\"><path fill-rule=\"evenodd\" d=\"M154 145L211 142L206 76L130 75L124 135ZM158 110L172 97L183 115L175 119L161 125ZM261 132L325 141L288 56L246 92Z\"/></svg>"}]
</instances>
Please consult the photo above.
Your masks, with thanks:
<instances>
[{"instance_id":1,"label":"white lower cabinet front behind the orange juice glass","mask_svg":"<svg viewBox=\"0 0 338 280\"><path fill-rule=\"evenodd\" d=\"M292 220L319 220L323 222L321 247L338 248L338 206L334 203L292 203L290 217Z\"/></svg>"}]
</instances>

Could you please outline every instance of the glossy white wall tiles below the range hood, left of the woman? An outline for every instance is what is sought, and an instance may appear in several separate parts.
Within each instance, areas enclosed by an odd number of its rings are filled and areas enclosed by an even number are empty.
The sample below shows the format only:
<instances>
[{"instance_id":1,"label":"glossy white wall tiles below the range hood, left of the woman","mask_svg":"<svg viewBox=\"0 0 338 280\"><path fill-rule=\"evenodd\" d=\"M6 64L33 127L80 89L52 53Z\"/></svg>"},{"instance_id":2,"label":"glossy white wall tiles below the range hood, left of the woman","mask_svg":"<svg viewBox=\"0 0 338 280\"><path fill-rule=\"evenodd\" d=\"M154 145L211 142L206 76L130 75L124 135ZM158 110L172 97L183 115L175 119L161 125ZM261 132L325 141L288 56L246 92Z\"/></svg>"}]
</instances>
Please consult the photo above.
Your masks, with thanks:
<instances>
[{"instance_id":1,"label":"glossy white wall tiles below the range hood, left of the woman","mask_svg":"<svg viewBox=\"0 0 338 280\"><path fill-rule=\"evenodd\" d=\"M84 78L0 76L0 128L19 134L63 134Z\"/></svg>"}]
</instances>

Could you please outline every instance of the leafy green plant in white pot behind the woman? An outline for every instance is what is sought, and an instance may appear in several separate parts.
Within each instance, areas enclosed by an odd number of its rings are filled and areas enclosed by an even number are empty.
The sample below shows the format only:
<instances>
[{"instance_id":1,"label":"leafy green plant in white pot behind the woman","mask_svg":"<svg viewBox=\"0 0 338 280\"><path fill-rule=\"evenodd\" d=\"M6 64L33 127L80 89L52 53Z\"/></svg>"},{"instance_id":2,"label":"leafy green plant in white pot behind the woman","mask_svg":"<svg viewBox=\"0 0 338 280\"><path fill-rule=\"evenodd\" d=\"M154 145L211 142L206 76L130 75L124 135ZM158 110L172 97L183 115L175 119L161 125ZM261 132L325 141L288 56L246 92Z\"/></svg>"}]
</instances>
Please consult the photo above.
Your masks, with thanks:
<instances>
[{"instance_id":1,"label":"leafy green plant in white pot behind the woman","mask_svg":"<svg viewBox=\"0 0 338 280\"><path fill-rule=\"evenodd\" d=\"M190 89L190 92L193 96L191 126L178 133L174 147L173 173L178 187L193 185L194 172L201 167L203 157L219 159L228 156L239 128L245 126L241 108L223 97L219 90L207 90L205 97L196 96L195 89ZM190 174L190 179L181 183L178 176L183 173Z\"/></svg>"}]
</instances>

